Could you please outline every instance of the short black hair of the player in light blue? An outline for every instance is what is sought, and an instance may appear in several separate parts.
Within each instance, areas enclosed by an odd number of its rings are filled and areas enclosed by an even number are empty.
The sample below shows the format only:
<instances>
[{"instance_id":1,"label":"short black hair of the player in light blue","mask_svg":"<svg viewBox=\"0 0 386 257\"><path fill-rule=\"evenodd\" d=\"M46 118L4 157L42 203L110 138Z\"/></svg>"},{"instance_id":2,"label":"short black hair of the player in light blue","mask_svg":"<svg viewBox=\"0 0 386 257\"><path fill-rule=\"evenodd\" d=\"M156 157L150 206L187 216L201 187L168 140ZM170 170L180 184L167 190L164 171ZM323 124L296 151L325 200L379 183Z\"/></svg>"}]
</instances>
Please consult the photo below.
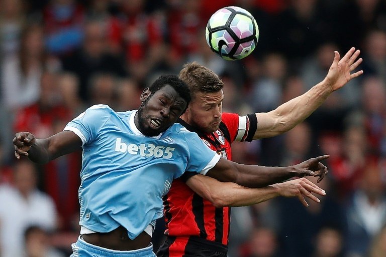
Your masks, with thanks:
<instances>
[{"instance_id":1,"label":"short black hair of the player in light blue","mask_svg":"<svg viewBox=\"0 0 386 257\"><path fill-rule=\"evenodd\" d=\"M177 94L183 98L186 102L186 107L190 102L190 90L185 82L180 80L176 75L163 75L156 79L153 84L151 84L149 90L152 93L157 92L164 86L169 85L177 92Z\"/></svg>"}]
</instances>

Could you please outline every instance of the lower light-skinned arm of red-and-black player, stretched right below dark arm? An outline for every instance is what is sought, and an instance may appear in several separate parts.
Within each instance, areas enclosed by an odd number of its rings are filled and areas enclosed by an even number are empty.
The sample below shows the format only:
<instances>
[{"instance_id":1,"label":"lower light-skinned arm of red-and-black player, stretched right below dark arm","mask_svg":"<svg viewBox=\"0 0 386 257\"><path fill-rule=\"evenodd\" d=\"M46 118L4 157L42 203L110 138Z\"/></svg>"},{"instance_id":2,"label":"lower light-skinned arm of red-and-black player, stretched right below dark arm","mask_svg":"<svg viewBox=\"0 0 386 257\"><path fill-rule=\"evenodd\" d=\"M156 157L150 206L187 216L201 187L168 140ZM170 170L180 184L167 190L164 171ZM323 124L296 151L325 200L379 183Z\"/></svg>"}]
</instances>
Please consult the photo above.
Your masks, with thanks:
<instances>
[{"instance_id":1,"label":"lower light-skinned arm of red-and-black player, stretched right below dark arm","mask_svg":"<svg viewBox=\"0 0 386 257\"><path fill-rule=\"evenodd\" d=\"M308 206L306 197L320 202L312 193L325 195L325 191L306 178L288 180L262 188L247 188L233 182L220 182L201 174L190 177L186 185L214 206L248 206L277 196L298 197Z\"/></svg>"}]
</instances>

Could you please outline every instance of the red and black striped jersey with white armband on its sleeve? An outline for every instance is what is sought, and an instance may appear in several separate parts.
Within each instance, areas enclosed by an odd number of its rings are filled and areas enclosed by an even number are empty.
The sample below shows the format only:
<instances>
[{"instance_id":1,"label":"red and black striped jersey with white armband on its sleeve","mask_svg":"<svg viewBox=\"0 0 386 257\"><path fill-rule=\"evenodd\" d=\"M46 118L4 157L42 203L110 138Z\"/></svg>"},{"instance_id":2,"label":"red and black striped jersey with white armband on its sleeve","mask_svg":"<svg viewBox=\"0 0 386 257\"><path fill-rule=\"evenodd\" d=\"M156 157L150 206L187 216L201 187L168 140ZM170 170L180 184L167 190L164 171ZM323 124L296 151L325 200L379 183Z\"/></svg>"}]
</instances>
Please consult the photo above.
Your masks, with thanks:
<instances>
[{"instance_id":1,"label":"red and black striped jersey with white armband on its sleeve","mask_svg":"<svg viewBox=\"0 0 386 257\"><path fill-rule=\"evenodd\" d=\"M188 130L195 131L211 149L222 157L231 159L233 141L252 141L257 128L255 114L239 116L223 113L219 129L203 134L179 120ZM185 172L185 174L188 172ZM184 181L187 177L174 179L164 196L166 230L169 236L198 236L215 244L228 244L230 208L216 208L210 201L192 191Z\"/></svg>"}]
</instances>

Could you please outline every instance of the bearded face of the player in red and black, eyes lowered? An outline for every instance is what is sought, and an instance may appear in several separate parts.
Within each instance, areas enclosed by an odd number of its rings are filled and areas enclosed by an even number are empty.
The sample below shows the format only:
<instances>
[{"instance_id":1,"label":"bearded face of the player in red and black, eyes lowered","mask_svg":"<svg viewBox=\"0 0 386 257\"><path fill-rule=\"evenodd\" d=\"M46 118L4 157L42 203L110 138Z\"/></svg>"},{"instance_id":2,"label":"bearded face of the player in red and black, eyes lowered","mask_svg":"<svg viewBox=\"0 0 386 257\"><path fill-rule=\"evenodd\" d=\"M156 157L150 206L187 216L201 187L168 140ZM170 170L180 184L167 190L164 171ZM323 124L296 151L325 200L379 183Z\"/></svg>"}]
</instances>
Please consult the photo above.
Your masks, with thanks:
<instances>
[{"instance_id":1,"label":"bearded face of the player in red and black, eyes lowered","mask_svg":"<svg viewBox=\"0 0 386 257\"><path fill-rule=\"evenodd\" d=\"M222 90L216 93L196 93L192 96L182 119L204 133L213 133L221 122L223 99Z\"/></svg>"}]
</instances>

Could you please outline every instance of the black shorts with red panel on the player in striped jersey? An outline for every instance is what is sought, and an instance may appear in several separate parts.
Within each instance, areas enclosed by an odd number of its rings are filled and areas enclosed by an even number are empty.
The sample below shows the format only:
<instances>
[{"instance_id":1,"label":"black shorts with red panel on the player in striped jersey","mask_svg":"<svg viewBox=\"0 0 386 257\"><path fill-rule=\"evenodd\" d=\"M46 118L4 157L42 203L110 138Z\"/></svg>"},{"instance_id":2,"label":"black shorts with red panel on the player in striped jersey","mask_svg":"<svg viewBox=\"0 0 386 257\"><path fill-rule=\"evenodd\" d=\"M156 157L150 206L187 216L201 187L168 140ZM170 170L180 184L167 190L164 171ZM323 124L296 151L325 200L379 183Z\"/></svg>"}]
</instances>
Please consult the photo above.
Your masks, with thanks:
<instances>
[{"instance_id":1,"label":"black shorts with red panel on the player in striped jersey","mask_svg":"<svg viewBox=\"0 0 386 257\"><path fill-rule=\"evenodd\" d=\"M168 236L157 251L157 257L227 257L226 245L200 237Z\"/></svg>"}]
</instances>

